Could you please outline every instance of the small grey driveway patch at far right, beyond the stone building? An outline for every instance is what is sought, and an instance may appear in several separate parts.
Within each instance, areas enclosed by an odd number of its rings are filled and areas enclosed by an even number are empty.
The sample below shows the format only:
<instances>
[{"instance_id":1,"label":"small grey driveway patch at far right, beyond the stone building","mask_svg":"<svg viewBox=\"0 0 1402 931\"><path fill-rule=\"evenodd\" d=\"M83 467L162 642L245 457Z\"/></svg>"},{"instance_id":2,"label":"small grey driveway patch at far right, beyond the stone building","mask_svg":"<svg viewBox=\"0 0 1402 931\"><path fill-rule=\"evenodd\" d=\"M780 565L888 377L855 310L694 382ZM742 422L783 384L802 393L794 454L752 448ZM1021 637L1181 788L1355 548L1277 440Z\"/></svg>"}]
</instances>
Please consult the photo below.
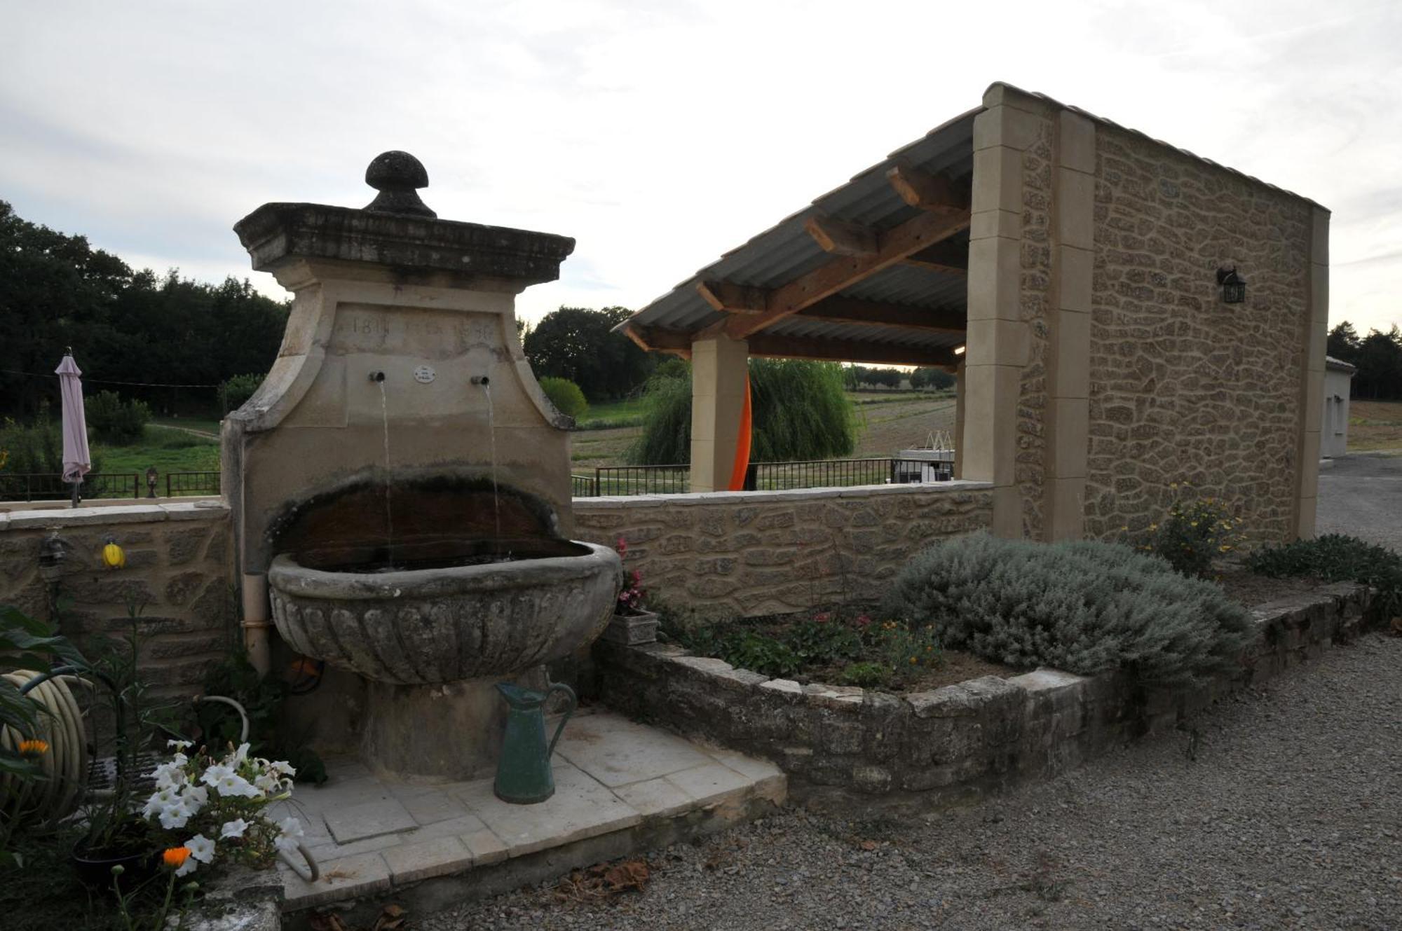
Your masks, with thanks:
<instances>
[{"instance_id":1,"label":"small grey driveway patch at far right, beyond the stone building","mask_svg":"<svg viewBox=\"0 0 1402 931\"><path fill-rule=\"evenodd\" d=\"M1402 551L1402 456L1357 453L1321 468L1316 529Z\"/></svg>"}]
</instances>

